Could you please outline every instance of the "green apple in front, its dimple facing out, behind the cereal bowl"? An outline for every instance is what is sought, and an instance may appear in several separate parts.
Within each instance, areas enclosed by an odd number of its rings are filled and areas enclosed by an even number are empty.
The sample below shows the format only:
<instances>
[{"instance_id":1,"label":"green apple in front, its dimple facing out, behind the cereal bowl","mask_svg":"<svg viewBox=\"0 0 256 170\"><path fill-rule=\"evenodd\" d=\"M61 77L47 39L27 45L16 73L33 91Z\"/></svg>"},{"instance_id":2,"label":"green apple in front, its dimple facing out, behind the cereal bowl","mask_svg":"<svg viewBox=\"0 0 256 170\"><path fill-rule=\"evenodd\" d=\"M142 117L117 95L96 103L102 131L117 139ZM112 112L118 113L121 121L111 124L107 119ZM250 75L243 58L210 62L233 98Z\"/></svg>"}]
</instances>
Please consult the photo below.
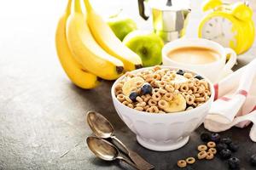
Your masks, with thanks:
<instances>
[{"instance_id":1,"label":"green apple in front, its dimple facing out, behind the cereal bowl","mask_svg":"<svg viewBox=\"0 0 256 170\"><path fill-rule=\"evenodd\" d=\"M160 65L162 63L163 40L151 31L132 31L123 40L125 45L138 54L143 66Z\"/></svg>"}]
</instances>

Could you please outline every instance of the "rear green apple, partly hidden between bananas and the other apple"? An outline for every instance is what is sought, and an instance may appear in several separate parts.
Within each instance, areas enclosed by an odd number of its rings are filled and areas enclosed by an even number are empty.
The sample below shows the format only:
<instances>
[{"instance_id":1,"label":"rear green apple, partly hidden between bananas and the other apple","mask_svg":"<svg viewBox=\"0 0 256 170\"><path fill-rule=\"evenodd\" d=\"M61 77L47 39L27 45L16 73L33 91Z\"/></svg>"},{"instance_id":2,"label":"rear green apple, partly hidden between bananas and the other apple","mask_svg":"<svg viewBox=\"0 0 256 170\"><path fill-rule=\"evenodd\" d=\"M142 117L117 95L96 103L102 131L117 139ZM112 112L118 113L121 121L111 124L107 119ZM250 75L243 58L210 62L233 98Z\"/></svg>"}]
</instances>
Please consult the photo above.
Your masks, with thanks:
<instances>
[{"instance_id":1,"label":"rear green apple, partly hidden between bananas and the other apple","mask_svg":"<svg viewBox=\"0 0 256 170\"><path fill-rule=\"evenodd\" d=\"M119 16L109 18L108 26L110 26L113 33L120 41L123 41L124 37L131 31L137 30L137 24L134 20Z\"/></svg>"}]
</instances>

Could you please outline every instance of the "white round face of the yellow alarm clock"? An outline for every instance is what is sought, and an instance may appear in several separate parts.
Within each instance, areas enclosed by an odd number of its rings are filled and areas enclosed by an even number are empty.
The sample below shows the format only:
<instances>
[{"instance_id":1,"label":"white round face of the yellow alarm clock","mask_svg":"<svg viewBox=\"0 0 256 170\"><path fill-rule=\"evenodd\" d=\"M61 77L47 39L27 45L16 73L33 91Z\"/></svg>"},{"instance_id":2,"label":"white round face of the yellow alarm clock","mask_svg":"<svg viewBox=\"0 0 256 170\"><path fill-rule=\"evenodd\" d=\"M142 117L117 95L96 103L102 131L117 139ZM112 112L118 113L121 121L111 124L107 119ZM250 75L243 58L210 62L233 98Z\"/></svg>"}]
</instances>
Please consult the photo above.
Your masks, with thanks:
<instances>
[{"instance_id":1,"label":"white round face of the yellow alarm clock","mask_svg":"<svg viewBox=\"0 0 256 170\"><path fill-rule=\"evenodd\" d=\"M236 47L236 34L233 24L224 17L212 17L202 26L201 35L203 38L218 42L226 48L230 48L230 44Z\"/></svg>"}]
</instances>

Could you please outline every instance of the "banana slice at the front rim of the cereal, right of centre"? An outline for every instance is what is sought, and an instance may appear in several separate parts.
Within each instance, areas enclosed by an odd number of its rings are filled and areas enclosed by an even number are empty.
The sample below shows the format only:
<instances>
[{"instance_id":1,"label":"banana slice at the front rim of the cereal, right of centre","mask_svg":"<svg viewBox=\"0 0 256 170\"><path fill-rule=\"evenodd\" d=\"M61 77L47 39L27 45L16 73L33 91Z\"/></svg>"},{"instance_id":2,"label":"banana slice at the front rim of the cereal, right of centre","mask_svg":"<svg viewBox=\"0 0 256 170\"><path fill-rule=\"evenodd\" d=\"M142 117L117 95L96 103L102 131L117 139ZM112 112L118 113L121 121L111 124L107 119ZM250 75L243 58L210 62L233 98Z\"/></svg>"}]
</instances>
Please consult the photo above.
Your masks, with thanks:
<instances>
[{"instance_id":1,"label":"banana slice at the front rim of the cereal, right of centre","mask_svg":"<svg viewBox=\"0 0 256 170\"><path fill-rule=\"evenodd\" d=\"M166 106L166 108L164 108L164 111L166 111L167 113L185 111L186 106L186 99L183 97L183 95L175 94L172 101L168 102L168 105Z\"/></svg>"}]
</instances>

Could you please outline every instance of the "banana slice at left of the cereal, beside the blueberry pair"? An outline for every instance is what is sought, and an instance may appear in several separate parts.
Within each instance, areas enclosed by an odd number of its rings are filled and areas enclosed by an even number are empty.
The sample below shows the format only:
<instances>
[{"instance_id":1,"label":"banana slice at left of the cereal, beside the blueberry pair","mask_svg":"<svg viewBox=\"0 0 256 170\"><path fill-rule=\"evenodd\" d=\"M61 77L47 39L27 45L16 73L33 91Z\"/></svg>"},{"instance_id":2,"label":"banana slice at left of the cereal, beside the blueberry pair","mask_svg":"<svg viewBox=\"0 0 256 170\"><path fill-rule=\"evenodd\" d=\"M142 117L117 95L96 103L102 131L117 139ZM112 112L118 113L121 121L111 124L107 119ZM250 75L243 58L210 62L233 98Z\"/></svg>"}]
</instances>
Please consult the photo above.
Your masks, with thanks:
<instances>
[{"instance_id":1,"label":"banana slice at left of the cereal, beside the blueberry pair","mask_svg":"<svg viewBox=\"0 0 256 170\"><path fill-rule=\"evenodd\" d=\"M131 91L134 91L137 88L141 88L143 86L144 79L142 77L133 77L124 83L122 88L123 94L128 96L131 94Z\"/></svg>"}]
</instances>

